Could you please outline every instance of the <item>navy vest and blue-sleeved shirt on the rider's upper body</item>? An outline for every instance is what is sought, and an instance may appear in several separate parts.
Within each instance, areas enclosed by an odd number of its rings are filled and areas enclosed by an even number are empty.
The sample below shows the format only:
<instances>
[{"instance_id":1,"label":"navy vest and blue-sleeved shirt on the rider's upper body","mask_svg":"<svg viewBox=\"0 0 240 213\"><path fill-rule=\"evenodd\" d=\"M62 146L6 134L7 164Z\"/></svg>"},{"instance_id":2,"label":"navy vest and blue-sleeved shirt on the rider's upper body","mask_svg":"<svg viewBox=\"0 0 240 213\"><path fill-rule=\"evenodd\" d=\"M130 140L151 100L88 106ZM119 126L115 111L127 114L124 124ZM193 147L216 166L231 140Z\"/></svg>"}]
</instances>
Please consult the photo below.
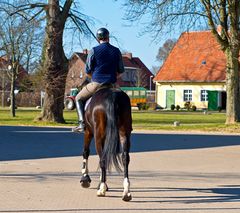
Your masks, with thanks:
<instances>
[{"instance_id":1,"label":"navy vest and blue-sleeved shirt on the rider's upper body","mask_svg":"<svg viewBox=\"0 0 240 213\"><path fill-rule=\"evenodd\" d=\"M117 73L124 72L120 50L108 42L99 44L88 53L85 71L94 82L115 83Z\"/></svg>"}]
</instances>

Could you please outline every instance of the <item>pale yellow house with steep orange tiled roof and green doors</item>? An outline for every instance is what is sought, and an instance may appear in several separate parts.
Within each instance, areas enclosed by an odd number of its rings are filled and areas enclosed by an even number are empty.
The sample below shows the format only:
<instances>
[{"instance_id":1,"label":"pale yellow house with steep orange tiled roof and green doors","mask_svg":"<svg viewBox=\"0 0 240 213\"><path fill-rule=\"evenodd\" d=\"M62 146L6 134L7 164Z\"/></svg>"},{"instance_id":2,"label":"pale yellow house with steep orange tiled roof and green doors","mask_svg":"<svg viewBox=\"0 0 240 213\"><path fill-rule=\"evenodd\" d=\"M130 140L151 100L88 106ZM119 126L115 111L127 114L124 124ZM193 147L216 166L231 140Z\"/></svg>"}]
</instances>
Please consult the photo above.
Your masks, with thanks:
<instances>
[{"instance_id":1,"label":"pale yellow house with steep orange tiled roof and green doors","mask_svg":"<svg viewBox=\"0 0 240 213\"><path fill-rule=\"evenodd\" d=\"M210 102L214 109L225 108L225 73L225 55L212 33L185 32L154 78L156 102L163 108L188 101L197 108L209 108Z\"/></svg>"}]
</instances>

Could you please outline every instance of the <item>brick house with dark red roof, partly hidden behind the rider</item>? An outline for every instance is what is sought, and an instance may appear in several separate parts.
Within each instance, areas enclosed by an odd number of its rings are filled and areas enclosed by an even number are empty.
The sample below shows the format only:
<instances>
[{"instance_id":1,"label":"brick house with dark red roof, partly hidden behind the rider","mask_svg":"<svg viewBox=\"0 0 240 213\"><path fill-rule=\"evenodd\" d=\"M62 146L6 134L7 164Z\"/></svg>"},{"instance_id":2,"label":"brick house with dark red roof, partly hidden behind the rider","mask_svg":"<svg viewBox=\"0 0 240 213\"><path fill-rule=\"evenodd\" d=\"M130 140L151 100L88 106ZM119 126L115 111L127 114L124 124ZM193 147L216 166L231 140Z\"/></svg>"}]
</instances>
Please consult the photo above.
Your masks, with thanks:
<instances>
[{"instance_id":1,"label":"brick house with dark red roof, partly hidden behind the rider","mask_svg":"<svg viewBox=\"0 0 240 213\"><path fill-rule=\"evenodd\" d=\"M82 53L74 53L70 58L69 71L66 80L66 93L70 92L71 88L78 87L85 78L85 63L87 59L87 50ZM125 72L118 79L117 84L120 87L136 87L141 86L149 89L150 80L152 81L151 71L138 58L133 57L131 53L122 55ZM152 88L153 84L151 82Z\"/></svg>"}]
</instances>

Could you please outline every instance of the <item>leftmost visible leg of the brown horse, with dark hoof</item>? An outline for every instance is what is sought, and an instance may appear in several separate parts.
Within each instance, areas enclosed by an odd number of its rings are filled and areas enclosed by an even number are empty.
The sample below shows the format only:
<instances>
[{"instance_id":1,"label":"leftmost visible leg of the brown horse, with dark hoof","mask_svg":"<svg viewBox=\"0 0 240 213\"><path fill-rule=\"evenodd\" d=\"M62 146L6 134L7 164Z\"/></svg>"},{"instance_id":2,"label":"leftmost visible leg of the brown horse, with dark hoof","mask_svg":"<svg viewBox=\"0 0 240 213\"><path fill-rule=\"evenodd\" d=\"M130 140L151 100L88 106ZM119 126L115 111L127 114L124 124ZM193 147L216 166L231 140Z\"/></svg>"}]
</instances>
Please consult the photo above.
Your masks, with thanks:
<instances>
[{"instance_id":1,"label":"leftmost visible leg of the brown horse, with dark hoof","mask_svg":"<svg viewBox=\"0 0 240 213\"><path fill-rule=\"evenodd\" d=\"M86 128L84 133L82 177L80 180L81 186L84 188L88 188L91 183L91 179L88 175L88 157L90 153L89 146L90 146L92 137L93 137L92 133Z\"/></svg>"}]
</instances>

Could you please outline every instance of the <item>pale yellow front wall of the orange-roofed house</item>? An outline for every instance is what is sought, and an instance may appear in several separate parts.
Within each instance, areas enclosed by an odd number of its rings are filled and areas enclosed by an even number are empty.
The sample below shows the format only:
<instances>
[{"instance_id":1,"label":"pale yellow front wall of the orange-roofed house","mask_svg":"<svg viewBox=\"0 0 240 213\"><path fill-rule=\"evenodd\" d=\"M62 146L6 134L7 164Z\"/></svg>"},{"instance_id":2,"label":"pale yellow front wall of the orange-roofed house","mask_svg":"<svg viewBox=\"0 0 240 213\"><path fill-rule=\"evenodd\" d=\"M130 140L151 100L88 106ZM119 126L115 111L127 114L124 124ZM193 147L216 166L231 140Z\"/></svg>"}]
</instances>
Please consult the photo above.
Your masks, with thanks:
<instances>
[{"instance_id":1,"label":"pale yellow front wall of the orange-roofed house","mask_svg":"<svg viewBox=\"0 0 240 213\"><path fill-rule=\"evenodd\" d=\"M208 102L201 101L201 90L226 91L225 83L156 83L156 102L166 108L166 91L175 90L175 106L184 107L183 90L192 90L191 103L197 108L207 108Z\"/></svg>"}]
</instances>

